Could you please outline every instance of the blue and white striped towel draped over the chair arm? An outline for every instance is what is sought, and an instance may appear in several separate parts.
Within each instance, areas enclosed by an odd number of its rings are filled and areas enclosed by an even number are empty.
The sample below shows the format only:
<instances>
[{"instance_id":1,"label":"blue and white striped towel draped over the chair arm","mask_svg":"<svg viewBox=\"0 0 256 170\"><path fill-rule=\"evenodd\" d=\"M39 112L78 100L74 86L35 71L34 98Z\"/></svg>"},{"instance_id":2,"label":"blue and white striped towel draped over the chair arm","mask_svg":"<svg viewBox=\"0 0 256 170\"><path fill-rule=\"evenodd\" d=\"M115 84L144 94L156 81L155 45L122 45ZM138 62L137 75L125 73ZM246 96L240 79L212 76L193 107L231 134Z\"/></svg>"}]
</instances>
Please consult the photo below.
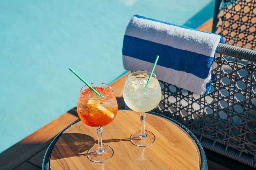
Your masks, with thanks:
<instances>
[{"instance_id":1,"label":"blue and white striped towel draped over the chair arm","mask_svg":"<svg viewBox=\"0 0 256 170\"><path fill-rule=\"evenodd\" d=\"M151 70L159 80L207 95L211 88L211 65L222 36L185 26L134 15L123 40L126 70Z\"/></svg>"}]
</instances>

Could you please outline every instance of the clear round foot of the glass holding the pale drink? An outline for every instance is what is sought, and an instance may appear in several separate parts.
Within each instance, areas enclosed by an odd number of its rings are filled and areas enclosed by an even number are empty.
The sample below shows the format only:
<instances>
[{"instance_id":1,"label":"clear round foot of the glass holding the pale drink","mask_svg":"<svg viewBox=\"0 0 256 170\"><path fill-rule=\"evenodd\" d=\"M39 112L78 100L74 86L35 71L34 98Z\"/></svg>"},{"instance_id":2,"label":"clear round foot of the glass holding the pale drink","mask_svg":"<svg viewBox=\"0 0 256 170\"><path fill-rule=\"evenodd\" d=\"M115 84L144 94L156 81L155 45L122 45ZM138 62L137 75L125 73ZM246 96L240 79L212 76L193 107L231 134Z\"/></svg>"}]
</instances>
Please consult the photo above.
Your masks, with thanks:
<instances>
[{"instance_id":1,"label":"clear round foot of the glass holding the pale drink","mask_svg":"<svg viewBox=\"0 0 256 170\"><path fill-rule=\"evenodd\" d=\"M131 135L131 142L136 145L136 146L141 146L141 147L144 147L144 146L149 146L151 144L153 144L156 140L156 137L155 135L150 132L150 131L145 131L147 137L140 137L140 134L141 134L141 130L137 131L137 132L134 132L132 135Z\"/></svg>"}]
</instances>

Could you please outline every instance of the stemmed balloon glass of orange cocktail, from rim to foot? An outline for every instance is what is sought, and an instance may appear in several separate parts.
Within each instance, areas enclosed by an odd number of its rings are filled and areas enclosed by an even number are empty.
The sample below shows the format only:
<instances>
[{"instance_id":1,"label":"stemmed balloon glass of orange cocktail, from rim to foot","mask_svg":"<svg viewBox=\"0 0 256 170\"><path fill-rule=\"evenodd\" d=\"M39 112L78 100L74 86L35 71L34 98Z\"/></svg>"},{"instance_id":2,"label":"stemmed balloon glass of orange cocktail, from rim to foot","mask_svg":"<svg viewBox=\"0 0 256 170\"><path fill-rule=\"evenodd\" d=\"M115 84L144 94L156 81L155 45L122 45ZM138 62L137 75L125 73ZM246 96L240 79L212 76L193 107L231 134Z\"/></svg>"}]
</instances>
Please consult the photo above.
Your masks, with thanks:
<instances>
[{"instance_id":1,"label":"stemmed balloon glass of orange cocktail, from rim to foot","mask_svg":"<svg viewBox=\"0 0 256 170\"><path fill-rule=\"evenodd\" d=\"M106 162L113 155L113 149L102 144L102 126L112 122L117 114L118 105L111 87L104 83L90 84L103 97L95 94L88 86L81 89L77 102L77 113L81 121L95 127L98 136L98 146L89 149L87 156L93 162Z\"/></svg>"}]
</instances>

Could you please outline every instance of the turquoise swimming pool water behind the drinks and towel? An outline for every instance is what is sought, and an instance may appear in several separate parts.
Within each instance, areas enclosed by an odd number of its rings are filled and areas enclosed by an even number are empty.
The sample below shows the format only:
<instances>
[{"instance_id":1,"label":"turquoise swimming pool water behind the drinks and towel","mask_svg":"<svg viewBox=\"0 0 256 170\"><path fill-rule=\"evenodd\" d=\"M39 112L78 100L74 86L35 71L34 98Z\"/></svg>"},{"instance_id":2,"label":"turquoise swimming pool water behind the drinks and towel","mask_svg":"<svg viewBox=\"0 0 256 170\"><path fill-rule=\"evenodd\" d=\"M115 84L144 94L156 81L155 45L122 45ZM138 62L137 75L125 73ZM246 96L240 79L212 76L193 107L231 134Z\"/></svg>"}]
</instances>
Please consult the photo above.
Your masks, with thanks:
<instances>
[{"instance_id":1,"label":"turquoise swimming pool water behind the drinks and towel","mask_svg":"<svg viewBox=\"0 0 256 170\"><path fill-rule=\"evenodd\" d=\"M131 16L196 28L212 0L0 0L0 153L76 106L83 83L125 73L122 41Z\"/></svg>"}]
</instances>

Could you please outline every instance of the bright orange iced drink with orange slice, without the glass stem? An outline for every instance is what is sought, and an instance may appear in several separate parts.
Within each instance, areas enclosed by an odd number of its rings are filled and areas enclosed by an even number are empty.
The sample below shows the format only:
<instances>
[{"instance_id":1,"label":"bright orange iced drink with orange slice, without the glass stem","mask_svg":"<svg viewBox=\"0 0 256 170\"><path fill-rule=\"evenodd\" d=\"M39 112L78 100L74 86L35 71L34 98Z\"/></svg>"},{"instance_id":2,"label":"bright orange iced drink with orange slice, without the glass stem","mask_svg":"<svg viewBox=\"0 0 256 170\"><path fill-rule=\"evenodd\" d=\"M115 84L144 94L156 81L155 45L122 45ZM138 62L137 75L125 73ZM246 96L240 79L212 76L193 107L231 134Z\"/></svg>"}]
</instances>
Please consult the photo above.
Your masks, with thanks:
<instances>
[{"instance_id":1,"label":"bright orange iced drink with orange slice, without the glass stem","mask_svg":"<svg viewBox=\"0 0 256 170\"><path fill-rule=\"evenodd\" d=\"M78 98L77 113L80 119L89 126L105 126L117 114L118 106L116 98L108 87L93 88L104 96L104 98L95 94L90 88L82 90Z\"/></svg>"}]
</instances>

